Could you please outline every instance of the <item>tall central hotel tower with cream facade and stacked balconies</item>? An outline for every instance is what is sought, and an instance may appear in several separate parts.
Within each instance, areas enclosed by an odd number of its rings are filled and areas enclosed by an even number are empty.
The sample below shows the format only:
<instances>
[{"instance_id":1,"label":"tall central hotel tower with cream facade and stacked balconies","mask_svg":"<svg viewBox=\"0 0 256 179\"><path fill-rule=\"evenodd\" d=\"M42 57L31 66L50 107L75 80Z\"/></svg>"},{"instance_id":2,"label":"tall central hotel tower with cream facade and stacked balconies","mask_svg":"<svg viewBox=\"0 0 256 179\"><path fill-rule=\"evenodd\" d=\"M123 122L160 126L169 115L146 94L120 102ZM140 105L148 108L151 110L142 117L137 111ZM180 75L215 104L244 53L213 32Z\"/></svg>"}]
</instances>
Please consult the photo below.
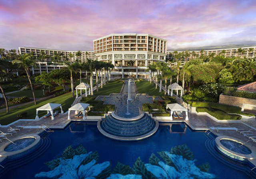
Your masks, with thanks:
<instances>
[{"instance_id":1,"label":"tall central hotel tower with cream facade and stacked balconies","mask_svg":"<svg viewBox=\"0 0 256 179\"><path fill-rule=\"evenodd\" d=\"M147 78L148 65L166 59L167 41L149 34L110 34L95 39L93 45L99 61L114 65L111 78Z\"/></svg>"}]
</instances>

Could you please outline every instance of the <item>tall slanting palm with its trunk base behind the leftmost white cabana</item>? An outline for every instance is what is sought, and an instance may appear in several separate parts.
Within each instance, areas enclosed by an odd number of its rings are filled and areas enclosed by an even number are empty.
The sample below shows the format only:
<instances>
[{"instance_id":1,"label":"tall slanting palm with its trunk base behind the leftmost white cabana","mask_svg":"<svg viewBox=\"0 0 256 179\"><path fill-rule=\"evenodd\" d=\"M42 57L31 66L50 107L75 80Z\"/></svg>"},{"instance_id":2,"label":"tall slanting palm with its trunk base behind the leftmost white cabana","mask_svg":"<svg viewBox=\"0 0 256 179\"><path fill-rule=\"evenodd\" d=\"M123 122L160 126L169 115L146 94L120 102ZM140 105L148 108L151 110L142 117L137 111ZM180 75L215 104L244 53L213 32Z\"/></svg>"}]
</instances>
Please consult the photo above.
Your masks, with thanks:
<instances>
[{"instance_id":1,"label":"tall slanting palm with its trunk base behind the leftmost white cabana","mask_svg":"<svg viewBox=\"0 0 256 179\"><path fill-rule=\"evenodd\" d=\"M32 82L31 82L30 70L29 70L30 67L36 66L36 59L32 59L31 55L24 53L23 55L20 55L20 59L15 59L14 61L12 61L12 63L17 64L18 68L24 69L26 71L27 76L28 76L28 81L31 86L33 98L34 98L34 103L36 105L36 97L35 97L34 88L33 88Z\"/></svg>"}]
</instances>

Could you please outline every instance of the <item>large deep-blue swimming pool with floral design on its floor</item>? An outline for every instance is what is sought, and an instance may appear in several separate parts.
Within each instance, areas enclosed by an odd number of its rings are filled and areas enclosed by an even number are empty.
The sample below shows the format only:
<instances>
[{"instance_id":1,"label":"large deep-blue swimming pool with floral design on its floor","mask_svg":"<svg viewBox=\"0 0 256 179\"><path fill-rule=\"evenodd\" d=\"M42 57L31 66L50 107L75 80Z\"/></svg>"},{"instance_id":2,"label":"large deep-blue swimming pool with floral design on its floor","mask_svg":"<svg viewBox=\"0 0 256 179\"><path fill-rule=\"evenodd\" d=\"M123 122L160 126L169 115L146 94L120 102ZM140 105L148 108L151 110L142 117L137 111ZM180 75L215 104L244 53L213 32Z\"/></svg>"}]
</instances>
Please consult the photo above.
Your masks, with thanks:
<instances>
[{"instance_id":1,"label":"large deep-blue swimming pool with floral design on its floor","mask_svg":"<svg viewBox=\"0 0 256 179\"><path fill-rule=\"evenodd\" d=\"M250 178L213 157L204 132L184 124L161 124L149 138L122 142L102 136L95 123L72 122L48 138L42 155L0 178Z\"/></svg>"}]
</instances>

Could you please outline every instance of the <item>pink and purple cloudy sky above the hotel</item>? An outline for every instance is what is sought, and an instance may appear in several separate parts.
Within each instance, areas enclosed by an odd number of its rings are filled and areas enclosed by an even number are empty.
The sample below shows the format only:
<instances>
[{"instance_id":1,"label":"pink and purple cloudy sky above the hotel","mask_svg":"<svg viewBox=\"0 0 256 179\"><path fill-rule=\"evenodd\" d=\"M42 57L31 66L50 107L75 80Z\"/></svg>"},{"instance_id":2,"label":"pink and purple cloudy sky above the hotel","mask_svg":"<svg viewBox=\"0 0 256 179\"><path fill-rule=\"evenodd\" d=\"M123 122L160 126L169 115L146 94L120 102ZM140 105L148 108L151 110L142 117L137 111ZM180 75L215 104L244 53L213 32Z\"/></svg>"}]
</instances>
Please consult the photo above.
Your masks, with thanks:
<instances>
[{"instance_id":1,"label":"pink and purple cloudy sky above the hotel","mask_svg":"<svg viewBox=\"0 0 256 179\"><path fill-rule=\"evenodd\" d=\"M110 33L149 33L168 49L256 42L256 0L0 0L0 48L93 49Z\"/></svg>"}]
</instances>

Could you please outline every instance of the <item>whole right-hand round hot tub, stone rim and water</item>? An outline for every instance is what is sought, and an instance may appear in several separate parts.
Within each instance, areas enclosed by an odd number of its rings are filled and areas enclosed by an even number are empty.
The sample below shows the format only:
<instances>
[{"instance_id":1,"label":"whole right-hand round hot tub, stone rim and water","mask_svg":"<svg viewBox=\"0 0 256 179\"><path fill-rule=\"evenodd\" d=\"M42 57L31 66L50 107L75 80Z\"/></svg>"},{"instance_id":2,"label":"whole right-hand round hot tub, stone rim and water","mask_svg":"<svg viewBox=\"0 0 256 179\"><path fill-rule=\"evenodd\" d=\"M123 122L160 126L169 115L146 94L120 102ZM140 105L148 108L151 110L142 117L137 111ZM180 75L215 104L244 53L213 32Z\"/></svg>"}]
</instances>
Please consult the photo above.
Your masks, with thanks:
<instances>
[{"instance_id":1,"label":"whole right-hand round hot tub, stone rim and water","mask_svg":"<svg viewBox=\"0 0 256 179\"><path fill-rule=\"evenodd\" d=\"M228 157L244 161L256 158L252 147L230 136L219 136L215 139L216 147Z\"/></svg>"}]
</instances>

